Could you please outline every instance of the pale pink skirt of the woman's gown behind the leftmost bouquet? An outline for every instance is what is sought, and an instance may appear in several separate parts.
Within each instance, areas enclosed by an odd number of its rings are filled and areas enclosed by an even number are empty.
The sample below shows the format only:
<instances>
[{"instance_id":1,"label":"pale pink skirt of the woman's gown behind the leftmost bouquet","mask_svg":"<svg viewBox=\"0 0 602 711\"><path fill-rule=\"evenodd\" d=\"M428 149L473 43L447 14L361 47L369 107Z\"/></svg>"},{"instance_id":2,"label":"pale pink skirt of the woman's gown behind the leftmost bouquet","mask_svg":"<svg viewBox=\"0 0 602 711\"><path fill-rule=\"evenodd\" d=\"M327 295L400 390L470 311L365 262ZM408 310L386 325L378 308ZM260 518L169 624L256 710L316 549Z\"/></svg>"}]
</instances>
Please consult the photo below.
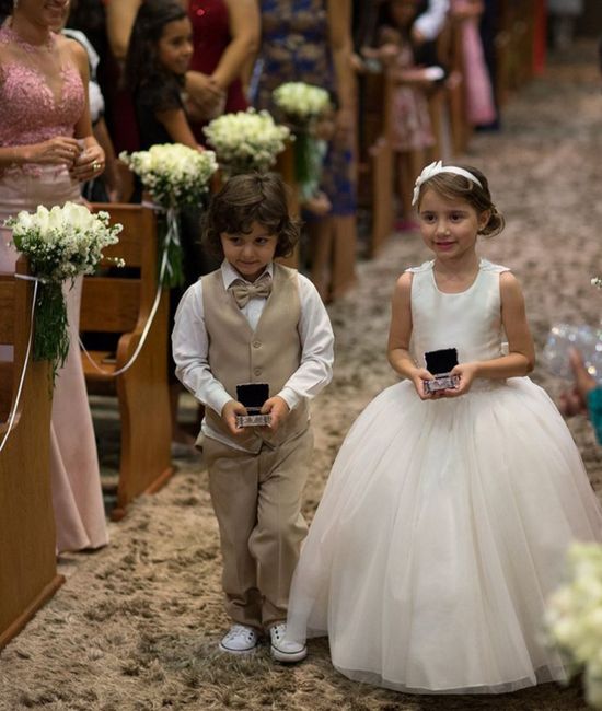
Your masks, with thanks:
<instances>
[{"instance_id":1,"label":"pale pink skirt of the woman's gown behind the leftmost bouquet","mask_svg":"<svg viewBox=\"0 0 602 711\"><path fill-rule=\"evenodd\" d=\"M39 173L39 174L38 174ZM4 220L67 200L80 201L79 184L63 168L40 166L36 174L0 174L0 271L14 271L19 253L9 244ZM71 345L58 372L50 424L50 478L57 551L99 548L108 543L99 457L78 346L82 278L65 285Z\"/></svg>"}]
</instances>

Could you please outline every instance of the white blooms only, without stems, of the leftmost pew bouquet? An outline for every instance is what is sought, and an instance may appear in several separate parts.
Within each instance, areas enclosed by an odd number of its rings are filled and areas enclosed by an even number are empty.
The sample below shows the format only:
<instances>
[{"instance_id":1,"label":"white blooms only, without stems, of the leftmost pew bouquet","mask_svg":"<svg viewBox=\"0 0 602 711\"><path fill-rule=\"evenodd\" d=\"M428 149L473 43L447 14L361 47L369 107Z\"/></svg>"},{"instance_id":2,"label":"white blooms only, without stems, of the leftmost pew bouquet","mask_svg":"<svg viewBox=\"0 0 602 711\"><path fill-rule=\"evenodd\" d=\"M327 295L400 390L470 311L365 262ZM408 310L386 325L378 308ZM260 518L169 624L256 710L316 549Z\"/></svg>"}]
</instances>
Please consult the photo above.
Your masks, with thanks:
<instances>
[{"instance_id":1,"label":"white blooms only, without stems, of the leftmost pew bouquet","mask_svg":"<svg viewBox=\"0 0 602 711\"><path fill-rule=\"evenodd\" d=\"M104 247L116 244L123 226L108 224L107 212L92 213L77 202L50 210L19 212L7 220L15 247L30 257L34 273L48 281L74 279L92 273Z\"/></svg>"}]
</instances>

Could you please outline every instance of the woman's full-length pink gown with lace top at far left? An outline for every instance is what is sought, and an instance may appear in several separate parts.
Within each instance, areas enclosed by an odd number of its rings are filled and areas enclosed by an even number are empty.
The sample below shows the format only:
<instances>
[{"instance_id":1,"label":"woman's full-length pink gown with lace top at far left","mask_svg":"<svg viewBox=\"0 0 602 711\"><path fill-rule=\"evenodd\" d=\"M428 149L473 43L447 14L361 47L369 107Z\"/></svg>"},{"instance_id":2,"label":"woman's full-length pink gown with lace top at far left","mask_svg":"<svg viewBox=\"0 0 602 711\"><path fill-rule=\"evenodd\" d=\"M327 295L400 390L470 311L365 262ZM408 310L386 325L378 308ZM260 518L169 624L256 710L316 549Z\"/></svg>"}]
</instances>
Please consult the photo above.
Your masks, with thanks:
<instances>
[{"instance_id":1,"label":"woman's full-length pink gown with lace top at far left","mask_svg":"<svg viewBox=\"0 0 602 711\"><path fill-rule=\"evenodd\" d=\"M58 51L57 42L51 39ZM24 43L9 26L0 28L2 147L71 137L84 108L77 67L65 59L59 91L53 91L35 61L27 61L35 59L37 51L40 49ZM13 59L19 57L23 61ZM10 230L1 226L8 217L35 210L38 205L51 207L80 199L79 184L71 179L67 166L26 164L0 172L0 270L14 271L18 257L10 244ZM80 278L73 289L66 289L71 349L53 400L50 476L59 552L107 543L96 443L78 347L81 285Z\"/></svg>"}]
</instances>

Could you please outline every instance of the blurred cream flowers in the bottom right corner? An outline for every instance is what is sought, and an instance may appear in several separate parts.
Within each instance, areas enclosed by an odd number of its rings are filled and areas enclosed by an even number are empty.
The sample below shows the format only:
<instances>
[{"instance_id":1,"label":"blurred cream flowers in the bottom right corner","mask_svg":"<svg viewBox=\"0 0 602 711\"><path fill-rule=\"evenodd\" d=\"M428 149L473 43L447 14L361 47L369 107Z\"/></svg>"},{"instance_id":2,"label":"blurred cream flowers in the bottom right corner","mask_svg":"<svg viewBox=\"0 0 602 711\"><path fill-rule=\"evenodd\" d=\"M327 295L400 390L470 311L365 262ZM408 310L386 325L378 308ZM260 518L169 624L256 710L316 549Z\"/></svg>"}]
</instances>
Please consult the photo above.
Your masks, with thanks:
<instances>
[{"instance_id":1,"label":"blurred cream flowers in the bottom right corner","mask_svg":"<svg viewBox=\"0 0 602 711\"><path fill-rule=\"evenodd\" d=\"M575 544L570 581L551 597L547 629L571 672L583 671L587 701L602 709L602 546Z\"/></svg>"}]
</instances>

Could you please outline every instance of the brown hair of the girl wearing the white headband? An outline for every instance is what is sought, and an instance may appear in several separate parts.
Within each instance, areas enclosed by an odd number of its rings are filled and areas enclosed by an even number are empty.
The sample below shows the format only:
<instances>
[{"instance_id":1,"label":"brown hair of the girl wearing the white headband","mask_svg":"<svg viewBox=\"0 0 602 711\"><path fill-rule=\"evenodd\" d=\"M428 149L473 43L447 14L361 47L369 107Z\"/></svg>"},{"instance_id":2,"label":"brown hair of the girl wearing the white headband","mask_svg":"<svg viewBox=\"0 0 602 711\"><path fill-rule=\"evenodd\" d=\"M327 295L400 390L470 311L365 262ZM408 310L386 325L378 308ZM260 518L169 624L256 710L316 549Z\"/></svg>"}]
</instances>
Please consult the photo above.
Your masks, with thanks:
<instances>
[{"instance_id":1,"label":"brown hair of the girl wearing the white headband","mask_svg":"<svg viewBox=\"0 0 602 711\"><path fill-rule=\"evenodd\" d=\"M451 200L458 198L466 200L466 202L475 209L477 214L483 214L483 212L489 211L487 224L478 231L478 234L486 237L494 237L496 234L499 234L503 230L506 220L491 200L487 178L478 168L472 167L471 165L454 163L454 166L464 168L465 171L468 171L468 173L472 173L472 175L474 175L481 183L481 186L463 175L458 175L455 173L437 173L420 186L418 207L420 206L420 200L422 199L425 190L427 188L432 188L444 198Z\"/></svg>"}]
</instances>

